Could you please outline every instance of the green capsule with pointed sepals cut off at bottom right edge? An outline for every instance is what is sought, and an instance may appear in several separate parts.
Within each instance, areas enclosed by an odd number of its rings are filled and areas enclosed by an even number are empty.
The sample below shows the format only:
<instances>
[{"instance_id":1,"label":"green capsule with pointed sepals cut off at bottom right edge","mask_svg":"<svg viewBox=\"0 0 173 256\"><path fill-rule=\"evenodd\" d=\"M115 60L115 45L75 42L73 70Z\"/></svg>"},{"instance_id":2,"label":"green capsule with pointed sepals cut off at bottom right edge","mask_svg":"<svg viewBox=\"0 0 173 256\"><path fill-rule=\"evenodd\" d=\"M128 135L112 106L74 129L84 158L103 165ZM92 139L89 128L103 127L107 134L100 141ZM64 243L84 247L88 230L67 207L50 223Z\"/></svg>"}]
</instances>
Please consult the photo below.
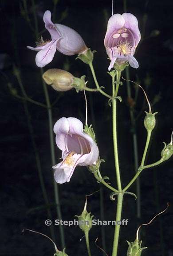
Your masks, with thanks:
<instances>
[{"instance_id":1,"label":"green capsule with pointed sepals cut off at bottom right edge","mask_svg":"<svg viewBox=\"0 0 173 256\"><path fill-rule=\"evenodd\" d=\"M141 256L142 251L147 248L141 247L142 241L139 241L137 238L134 242L131 243L127 241L127 244L129 244L127 256Z\"/></svg>"}]
</instances>

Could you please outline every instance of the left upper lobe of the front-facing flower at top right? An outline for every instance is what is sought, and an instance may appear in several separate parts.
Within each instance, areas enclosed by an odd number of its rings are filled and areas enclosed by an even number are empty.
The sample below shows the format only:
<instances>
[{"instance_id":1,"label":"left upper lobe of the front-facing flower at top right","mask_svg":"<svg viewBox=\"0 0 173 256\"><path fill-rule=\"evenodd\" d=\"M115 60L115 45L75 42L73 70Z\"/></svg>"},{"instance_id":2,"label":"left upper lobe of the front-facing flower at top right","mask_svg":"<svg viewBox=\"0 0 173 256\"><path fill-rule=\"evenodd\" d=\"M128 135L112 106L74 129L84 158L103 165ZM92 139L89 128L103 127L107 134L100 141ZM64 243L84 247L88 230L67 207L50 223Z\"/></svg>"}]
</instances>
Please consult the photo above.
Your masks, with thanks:
<instances>
[{"instance_id":1,"label":"left upper lobe of the front-facing flower at top right","mask_svg":"<svg viewBox=\"0 0 173 256\"><path fill-rule=\"evenodd\" d=\"M114 14L110 17L107 24L107 31L105 35L104 45L107 47L108 40L114 31L122 28L125 24L125 20L121 14Z\"/></svg>"}]
</instances>

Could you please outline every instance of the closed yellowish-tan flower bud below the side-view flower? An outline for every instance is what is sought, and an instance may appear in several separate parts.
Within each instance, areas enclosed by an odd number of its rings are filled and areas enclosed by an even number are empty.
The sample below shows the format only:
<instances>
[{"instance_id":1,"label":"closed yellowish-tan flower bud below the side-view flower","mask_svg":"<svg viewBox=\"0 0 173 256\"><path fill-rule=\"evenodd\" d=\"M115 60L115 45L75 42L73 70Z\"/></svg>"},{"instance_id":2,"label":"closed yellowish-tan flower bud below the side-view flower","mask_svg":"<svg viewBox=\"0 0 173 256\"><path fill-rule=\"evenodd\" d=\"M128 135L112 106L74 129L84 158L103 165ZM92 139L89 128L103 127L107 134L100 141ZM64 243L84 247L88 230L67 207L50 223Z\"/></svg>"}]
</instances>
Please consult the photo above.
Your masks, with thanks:
<instances>
[{"instance_id":1,"label":"closed yellowish-tan flower bud below the side-view flower","mask_svg":"<svg viewBox=\"0 0 173 256\"><path fill-rule=\"evenodd\" d=\"M43 80L56 91L66 92L73 88L71 84L73 84L74 76L65 70L51 68L44 72Z\"/></svg>"}]
</instances>

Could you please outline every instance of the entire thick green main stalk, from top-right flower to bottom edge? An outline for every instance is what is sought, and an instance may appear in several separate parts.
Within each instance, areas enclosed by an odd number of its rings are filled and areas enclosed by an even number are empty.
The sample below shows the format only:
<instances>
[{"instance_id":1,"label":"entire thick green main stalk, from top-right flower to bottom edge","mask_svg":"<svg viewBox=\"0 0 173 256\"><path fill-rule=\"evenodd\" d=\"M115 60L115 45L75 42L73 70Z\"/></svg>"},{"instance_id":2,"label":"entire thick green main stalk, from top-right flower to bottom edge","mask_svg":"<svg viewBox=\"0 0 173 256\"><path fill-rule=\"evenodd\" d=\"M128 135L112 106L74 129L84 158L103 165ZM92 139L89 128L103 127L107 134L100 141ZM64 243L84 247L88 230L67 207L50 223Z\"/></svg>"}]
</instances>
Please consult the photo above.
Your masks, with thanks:
<instances>
[{"instance_id":1,"label":"entire thick green main stalk, from top-right flower to bottom edge","mask_svg":"<svg viewBox=\"0 0 173 256\"><path fill-rule=\"evenodd\" d=\"M117 80L116 80L116 89L115 89L115 81L114 76L112 77L112 97L116 97L118 94L118 88L120 84L121 72L117 71ZM122 214L122 200L123 193L122 185L121 185L121 177L120 177L120 169L119 169L119 160L118 160L118 142L117 142L117 100L112 100L112 119L113 119L113 141L114 141L114 161L115 161L115 170L118 184L118 203L117 203L117 213L116 213L116 226L114 231L114 244L113 244L113 252L112 256L117 256L118 251L118 240L119 240L119 231L120 225L117 224L118 220L121 220Z\"/></svg>"}]
</instances>

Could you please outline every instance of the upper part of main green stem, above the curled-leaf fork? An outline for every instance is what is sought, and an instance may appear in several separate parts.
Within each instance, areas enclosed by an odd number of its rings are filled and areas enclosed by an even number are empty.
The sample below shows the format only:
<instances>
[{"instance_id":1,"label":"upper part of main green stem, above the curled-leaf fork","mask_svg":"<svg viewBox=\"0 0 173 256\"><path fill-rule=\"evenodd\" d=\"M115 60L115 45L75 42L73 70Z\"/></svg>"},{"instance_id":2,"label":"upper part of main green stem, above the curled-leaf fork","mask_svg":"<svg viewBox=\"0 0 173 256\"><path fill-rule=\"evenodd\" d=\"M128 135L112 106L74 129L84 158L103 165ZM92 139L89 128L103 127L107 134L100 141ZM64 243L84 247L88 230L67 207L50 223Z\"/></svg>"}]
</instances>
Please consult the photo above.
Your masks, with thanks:
<instances>
[{"instance_id":1,"label":"upper part of main green stem, above the curled-leaf fork","mask_svg":"<svg viewBox=\"0 0 173 256\"><path fill-rule=\"evenodd\" d=\"M121 72L117 71L117 81L116 81L116 89L114 90L114 77L112 78L112 97L116 97L118 94L118 88L120 83L120 76ZM119 160L118 160L118 142L117 142L117 100L112 100L112 119L113 119L113 141L114 141L114 161L115 161L115 170L117 176L117 184L118 184L118 191L122 191L121 186L121 177L120 177L120 170L119 170Z\"/></svg>"}]
</instances>

